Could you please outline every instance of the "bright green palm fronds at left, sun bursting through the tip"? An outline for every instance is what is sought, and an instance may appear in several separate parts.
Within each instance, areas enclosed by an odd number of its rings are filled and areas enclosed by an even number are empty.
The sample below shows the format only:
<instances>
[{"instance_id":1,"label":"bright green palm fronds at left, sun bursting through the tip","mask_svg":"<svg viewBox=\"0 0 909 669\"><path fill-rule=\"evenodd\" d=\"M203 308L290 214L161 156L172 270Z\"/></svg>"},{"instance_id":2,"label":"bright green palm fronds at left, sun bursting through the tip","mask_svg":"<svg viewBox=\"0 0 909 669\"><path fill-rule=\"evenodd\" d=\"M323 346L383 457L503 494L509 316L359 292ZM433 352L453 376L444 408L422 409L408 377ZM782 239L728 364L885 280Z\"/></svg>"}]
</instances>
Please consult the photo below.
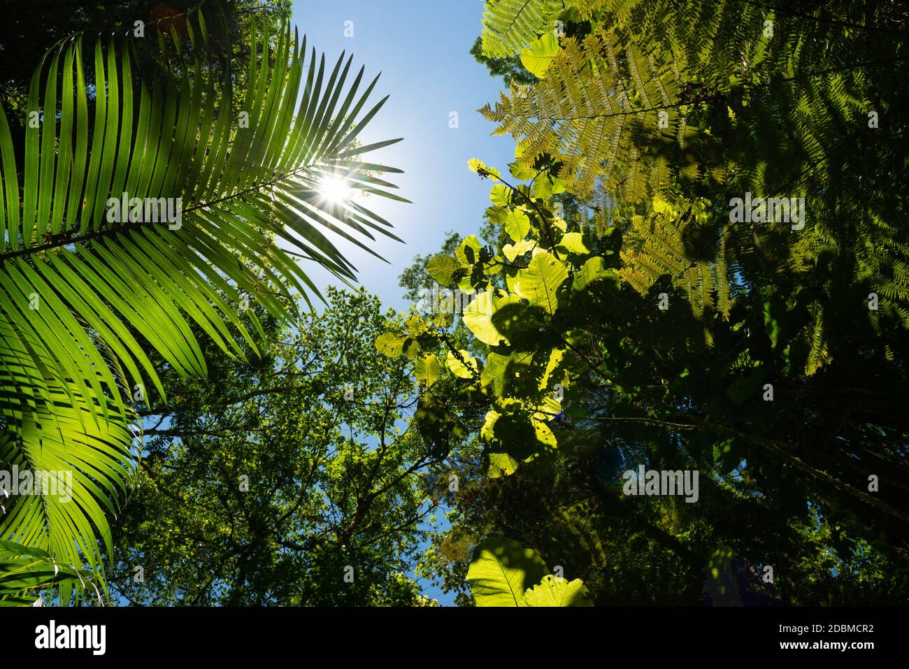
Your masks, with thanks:
<instances>
[{"instance_id":1,"label":"bright green palm fronds at left, sun bursting through the tip","mask_svg":"<svg viewBox=\"0 0 909 669\"><path fill-rule=\"evenodd\" d=\"M126 389L145 379L164 394L150 352L204 375L191 324L239 356L228 328L254 350L249 328L261 333L244 294L289 321L282 296L318 293L294 256L355 278L325 229L374 254L374 232L397 239L365 206L326 202L326 173L403 199L377 176L397 170L362 161L398 140L359 142L385 99L367 105L377 77L362 90L363 68L348 85L352 59L329 72L313 50L306 65L287 24L276 45L254 35L234 118L235 75L210 57L201 13L159 49L178 75L140 77L135 46L115 40L84 50L75 36L45 55L28 98L45 115L26 129L24 166L0 106L0 468L73 476L68 504L7 500L0 540L99 574L106 518L141 452ZM123 194L152 203L140 220L111 220ZM177 198L179 222L148 220Z\"/></svg>"}]
</instances>

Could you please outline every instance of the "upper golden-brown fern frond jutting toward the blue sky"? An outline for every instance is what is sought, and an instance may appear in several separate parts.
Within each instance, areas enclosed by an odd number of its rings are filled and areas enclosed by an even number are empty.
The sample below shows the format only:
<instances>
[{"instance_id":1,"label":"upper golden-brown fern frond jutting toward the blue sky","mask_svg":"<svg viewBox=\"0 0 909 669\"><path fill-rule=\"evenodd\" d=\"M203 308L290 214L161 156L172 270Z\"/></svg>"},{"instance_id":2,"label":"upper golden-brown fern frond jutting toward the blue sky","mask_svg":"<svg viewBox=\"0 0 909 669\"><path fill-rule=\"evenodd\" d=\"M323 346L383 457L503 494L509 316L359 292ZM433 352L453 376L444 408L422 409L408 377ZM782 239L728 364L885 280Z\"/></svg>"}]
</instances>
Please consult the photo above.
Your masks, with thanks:
<instances>
[{"instance_id":1,"label":"upper golden-brown fern frond jutting toward the blue sky","mask_svg":"<svg viewBox=\"0 0 909 669\"><path fill-rule=\"evenodd\" d=\"M637 156L657 135L673 137L684 111L672 67L619 49L607 33L566 38L563 45L545 79L515 86L480 112L499 124L494 132L521 140L525 165L545 154L561 161L559 176L572 192L587 197L602 180L625 200L643 200L664 184L647 182Z\"/></svg>"}]
</instances>

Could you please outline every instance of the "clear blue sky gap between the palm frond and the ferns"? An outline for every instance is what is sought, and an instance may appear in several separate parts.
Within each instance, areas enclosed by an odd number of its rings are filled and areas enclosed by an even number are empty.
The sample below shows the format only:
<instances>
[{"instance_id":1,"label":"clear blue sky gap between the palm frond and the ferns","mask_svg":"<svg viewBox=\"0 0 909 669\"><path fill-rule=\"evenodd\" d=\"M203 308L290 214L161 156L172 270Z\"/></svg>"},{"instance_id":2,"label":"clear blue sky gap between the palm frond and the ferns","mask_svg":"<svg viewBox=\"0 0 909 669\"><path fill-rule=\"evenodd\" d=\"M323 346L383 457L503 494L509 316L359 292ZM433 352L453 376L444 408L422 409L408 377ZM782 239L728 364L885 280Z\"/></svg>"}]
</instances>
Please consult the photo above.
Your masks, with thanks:
<instances>
[{"instance_id":1,"label":"clear blue sky gap between the palm frond and the ferns","mask_svg":"<svg viewBox=\"0 0 909 669\"><path fill-rule=\"evenodd\" d=\"M468 53L480 35L482 16L479 0L294 3L294 22L307 36L307 49L312 45L324 52L326 66L334 66L344 51L354 55L352 72L366 66L366 82L382 73L371 99L375 104L390 98L361 135L364 144L404 137L367 156L405 171L388 180L414 204L372 196L367 206L394 224L406 244L376 238L374 250L387 265L337 241L360 282L384 305L405 307L397 277L414 255L437 251L446 230L472 235L479 229L490 205L490 186L467 169L467 160L476 157L503 168L514 160L514 140L490 136L494 124L475 111L498 99L504 86ZM346 21L353 22L353 37L345 37ZM457 128L449 128L451 112L458 114ZM315 265L306 271L320 287L333 283Z\"/></svg>"}]
</instances>

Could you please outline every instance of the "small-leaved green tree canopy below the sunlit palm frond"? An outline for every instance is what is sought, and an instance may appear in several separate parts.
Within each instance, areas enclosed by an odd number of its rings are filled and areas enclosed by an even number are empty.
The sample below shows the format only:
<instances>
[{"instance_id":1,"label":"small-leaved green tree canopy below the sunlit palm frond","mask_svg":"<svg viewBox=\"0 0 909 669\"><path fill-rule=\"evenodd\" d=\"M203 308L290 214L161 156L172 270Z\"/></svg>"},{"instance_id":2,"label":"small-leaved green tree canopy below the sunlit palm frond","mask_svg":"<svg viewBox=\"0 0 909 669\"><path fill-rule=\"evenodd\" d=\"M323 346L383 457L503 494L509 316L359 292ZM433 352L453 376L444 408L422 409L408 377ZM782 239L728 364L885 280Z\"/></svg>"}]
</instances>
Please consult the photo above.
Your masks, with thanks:
<instances>
[{"instance_id":1,"label":"small-leaved green tree canopy below the sunlit palm frond","mask_svg":"<svg viewBox=\"0 0 909 669\"><path fill-rule=\"evenodd\" d=\"M263 314L255 363L209 345L205 381L165 376L111 585L141 604L419 604L405 574L435 504L410 429L415 384L372 345L400 316L329 290L293 329ZM252 356L248 356L252 359ZM138 569L137 569L138 567ZM346 570L346 571L345 571ZM346 578L345 578L346 577Z\"/></svg>"}]
</instances>

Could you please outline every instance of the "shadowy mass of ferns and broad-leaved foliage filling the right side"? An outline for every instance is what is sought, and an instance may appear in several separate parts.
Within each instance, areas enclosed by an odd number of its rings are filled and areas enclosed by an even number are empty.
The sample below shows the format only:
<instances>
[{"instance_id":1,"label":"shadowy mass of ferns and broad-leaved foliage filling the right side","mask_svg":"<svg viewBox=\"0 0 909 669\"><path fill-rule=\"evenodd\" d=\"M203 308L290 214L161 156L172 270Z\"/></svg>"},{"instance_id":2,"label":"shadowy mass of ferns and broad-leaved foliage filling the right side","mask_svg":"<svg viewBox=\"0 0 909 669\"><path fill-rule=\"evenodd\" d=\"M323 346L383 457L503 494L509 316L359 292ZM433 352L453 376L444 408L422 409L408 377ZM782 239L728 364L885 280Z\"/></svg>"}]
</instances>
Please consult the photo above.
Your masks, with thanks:
<instances>
[{"instance_id":1,"label":"shadowy mass of ferns and broad-leaved foliage filling the right side","mask_svg":"<svg viewBox=\"0 0 909 669\"><path fill-rule=\"evenodd\" d=\"M518 140L510 175L471 162L484 239L425 263L470 305L397 335L487 412L448 588L508 536L599 604L905 600L903 16L705 11L487 3L484 54L538 80L481 110ZM629 497L640 465L697 500Z\"/></svg>"}]
</instances>

